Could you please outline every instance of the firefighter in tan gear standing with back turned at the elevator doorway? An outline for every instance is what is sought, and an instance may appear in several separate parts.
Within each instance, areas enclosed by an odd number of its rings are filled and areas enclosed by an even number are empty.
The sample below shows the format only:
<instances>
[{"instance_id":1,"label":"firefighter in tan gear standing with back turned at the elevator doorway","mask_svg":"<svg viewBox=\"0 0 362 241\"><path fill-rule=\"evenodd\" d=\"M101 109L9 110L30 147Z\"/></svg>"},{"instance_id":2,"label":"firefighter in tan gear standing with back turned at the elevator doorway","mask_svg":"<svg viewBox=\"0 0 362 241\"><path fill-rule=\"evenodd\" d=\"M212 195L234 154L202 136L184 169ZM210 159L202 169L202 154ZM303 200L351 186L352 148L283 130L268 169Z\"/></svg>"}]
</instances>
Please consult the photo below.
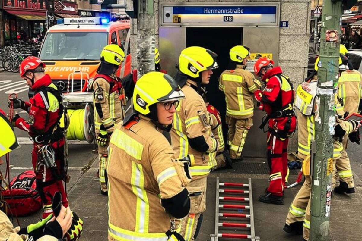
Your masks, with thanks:
<instances>
[{"instance_id":1,"label":"firefighter in tan gear standing with back turned at the elevator doorway","mask_svg":"<svg viewBox=\"0 0 362 241\"><path fill-rule=\"evenodd\" d=\"M226 100L226 123L228 145L233 162L243 160L242 151L249 129L253 125L253 94L260 90L261 83L245 70L250 49L237 45L230 50L230 63L219 78L219 89Z\"/></svg>"}]
</instances>

